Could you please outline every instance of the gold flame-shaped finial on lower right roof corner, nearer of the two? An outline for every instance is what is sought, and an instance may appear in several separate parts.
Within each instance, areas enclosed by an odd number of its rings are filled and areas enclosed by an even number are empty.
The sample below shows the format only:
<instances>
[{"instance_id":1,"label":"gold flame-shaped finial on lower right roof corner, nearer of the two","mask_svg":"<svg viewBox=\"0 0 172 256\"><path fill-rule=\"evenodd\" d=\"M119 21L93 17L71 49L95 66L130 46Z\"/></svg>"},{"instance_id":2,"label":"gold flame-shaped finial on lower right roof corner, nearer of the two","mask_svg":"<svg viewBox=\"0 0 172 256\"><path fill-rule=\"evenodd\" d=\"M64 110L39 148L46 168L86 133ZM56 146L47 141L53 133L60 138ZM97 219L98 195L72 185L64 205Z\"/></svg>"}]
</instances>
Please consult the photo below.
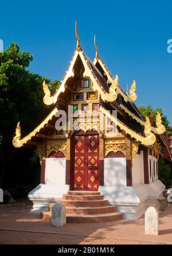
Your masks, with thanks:
<instances>
[{"instance_id":1,"label":"gold flame-shaped finial on lower right roof corner, nearer of the two","mask_svg":"<svg viewBox=\"0 0 172 256\"><path fill-rule=\"evenodd\" d=\"M144 138L144 145L153 145L156 141L156 136L155 134L151 133L151 123L148 117L146 117L146 121L144 123L144 134L146 135L146 137Z\"/></svg>"}]
</instances>

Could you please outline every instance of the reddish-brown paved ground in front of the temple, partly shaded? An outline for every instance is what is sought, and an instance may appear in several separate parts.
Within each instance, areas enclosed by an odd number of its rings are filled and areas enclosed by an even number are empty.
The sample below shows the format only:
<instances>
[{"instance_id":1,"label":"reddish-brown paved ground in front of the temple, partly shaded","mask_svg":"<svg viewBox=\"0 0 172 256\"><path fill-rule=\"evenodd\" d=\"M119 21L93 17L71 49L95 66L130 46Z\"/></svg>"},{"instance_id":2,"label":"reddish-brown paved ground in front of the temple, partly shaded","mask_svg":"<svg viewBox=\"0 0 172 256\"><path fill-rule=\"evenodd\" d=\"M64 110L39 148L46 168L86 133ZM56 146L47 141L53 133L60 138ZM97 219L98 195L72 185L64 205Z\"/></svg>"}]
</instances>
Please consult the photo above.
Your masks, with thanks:
<instances>
[{"instance_id":1,"label":"reddish-brown paved ground in front of the temple, partly shaded","mask_svg":"<svg viewBox=\"0 0 172 256\"><path fill-rule=\"evenodd\" d=\"M160 215L159 236L144 235L144 219L52 227L31 214L32 203L0 205L0 244L172 244L172 205Z\"/></svg>"}]
</instances>

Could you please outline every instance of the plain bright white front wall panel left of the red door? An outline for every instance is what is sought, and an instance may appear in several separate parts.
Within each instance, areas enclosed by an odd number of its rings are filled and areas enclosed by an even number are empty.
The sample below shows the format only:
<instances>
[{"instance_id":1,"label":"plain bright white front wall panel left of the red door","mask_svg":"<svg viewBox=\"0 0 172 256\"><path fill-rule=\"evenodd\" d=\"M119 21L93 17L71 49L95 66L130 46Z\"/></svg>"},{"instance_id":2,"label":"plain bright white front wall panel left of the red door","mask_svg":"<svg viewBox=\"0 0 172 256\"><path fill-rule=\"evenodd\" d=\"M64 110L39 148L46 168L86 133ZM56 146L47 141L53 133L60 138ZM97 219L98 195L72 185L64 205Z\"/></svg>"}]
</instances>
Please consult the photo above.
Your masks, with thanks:
<instances>
[{"instance_id":1,"label":"plain bright white front wall panel left of the red door","mask_svg":"<svg viewBox=\"0 0 172 256\"><path fill-rule=\"evenodd\" d=\"M46 158L45 183L65 184L66 158Z\"/></svg>"}]
</instances>

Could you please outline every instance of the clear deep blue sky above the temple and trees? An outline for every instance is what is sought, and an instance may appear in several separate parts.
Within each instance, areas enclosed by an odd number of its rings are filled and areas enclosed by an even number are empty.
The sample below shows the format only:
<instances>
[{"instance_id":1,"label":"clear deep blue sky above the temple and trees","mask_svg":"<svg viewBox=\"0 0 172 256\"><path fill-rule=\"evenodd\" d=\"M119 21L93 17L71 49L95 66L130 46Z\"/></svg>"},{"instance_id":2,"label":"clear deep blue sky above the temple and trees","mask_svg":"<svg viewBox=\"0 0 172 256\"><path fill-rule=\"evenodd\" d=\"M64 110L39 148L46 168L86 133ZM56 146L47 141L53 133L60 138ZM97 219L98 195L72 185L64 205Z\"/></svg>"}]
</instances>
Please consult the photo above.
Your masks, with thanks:
<instances>
[{"instance_id":1,"label":"clear deep blue sky above the temple and trees","mask_svg":"<svg viewBox=\"0 0 172 256\"><path fill-rule=\"evenodd\" d=\"M30 69L61 80L75 51L75 20L85 53L93 34L107 67L126 90L136 80L136 104L161 107L172 125L172 1L1 1L0 39L33 54Z\"/></svg>"}]
</instances>

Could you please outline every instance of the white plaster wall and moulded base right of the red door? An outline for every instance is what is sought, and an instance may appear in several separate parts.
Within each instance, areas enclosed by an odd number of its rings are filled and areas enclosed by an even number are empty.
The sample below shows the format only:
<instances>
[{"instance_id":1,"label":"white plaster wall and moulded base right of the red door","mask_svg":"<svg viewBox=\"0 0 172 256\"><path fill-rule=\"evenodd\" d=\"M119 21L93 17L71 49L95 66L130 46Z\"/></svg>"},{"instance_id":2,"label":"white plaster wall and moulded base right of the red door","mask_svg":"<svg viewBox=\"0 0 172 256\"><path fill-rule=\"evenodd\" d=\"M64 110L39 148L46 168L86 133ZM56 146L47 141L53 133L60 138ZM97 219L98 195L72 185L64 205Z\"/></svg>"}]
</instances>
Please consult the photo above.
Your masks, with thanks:
<instances>
[{"instance_id":1,"label":"white plaster wall and moulded base right of the red door","mask_svg":"<svg viewBox=\"0 0 172 256\"><path fill-rule=\"evenodd\" d=\"M152 161L152 157L149 157ZM124 218L138 219L148 207L159 209L165 185L159 180L144 184L143 152L137 155L133 165L132 187L126 186L126 158L104 159L104 185L99 187L101 195L115 204ZM154 158L155 162L157 161ZM155 169L156 176L156 169ZM157 177L155 177L157 179ZM138 184L141 183L141 184Z\"/></svg>"}]
</instances>

